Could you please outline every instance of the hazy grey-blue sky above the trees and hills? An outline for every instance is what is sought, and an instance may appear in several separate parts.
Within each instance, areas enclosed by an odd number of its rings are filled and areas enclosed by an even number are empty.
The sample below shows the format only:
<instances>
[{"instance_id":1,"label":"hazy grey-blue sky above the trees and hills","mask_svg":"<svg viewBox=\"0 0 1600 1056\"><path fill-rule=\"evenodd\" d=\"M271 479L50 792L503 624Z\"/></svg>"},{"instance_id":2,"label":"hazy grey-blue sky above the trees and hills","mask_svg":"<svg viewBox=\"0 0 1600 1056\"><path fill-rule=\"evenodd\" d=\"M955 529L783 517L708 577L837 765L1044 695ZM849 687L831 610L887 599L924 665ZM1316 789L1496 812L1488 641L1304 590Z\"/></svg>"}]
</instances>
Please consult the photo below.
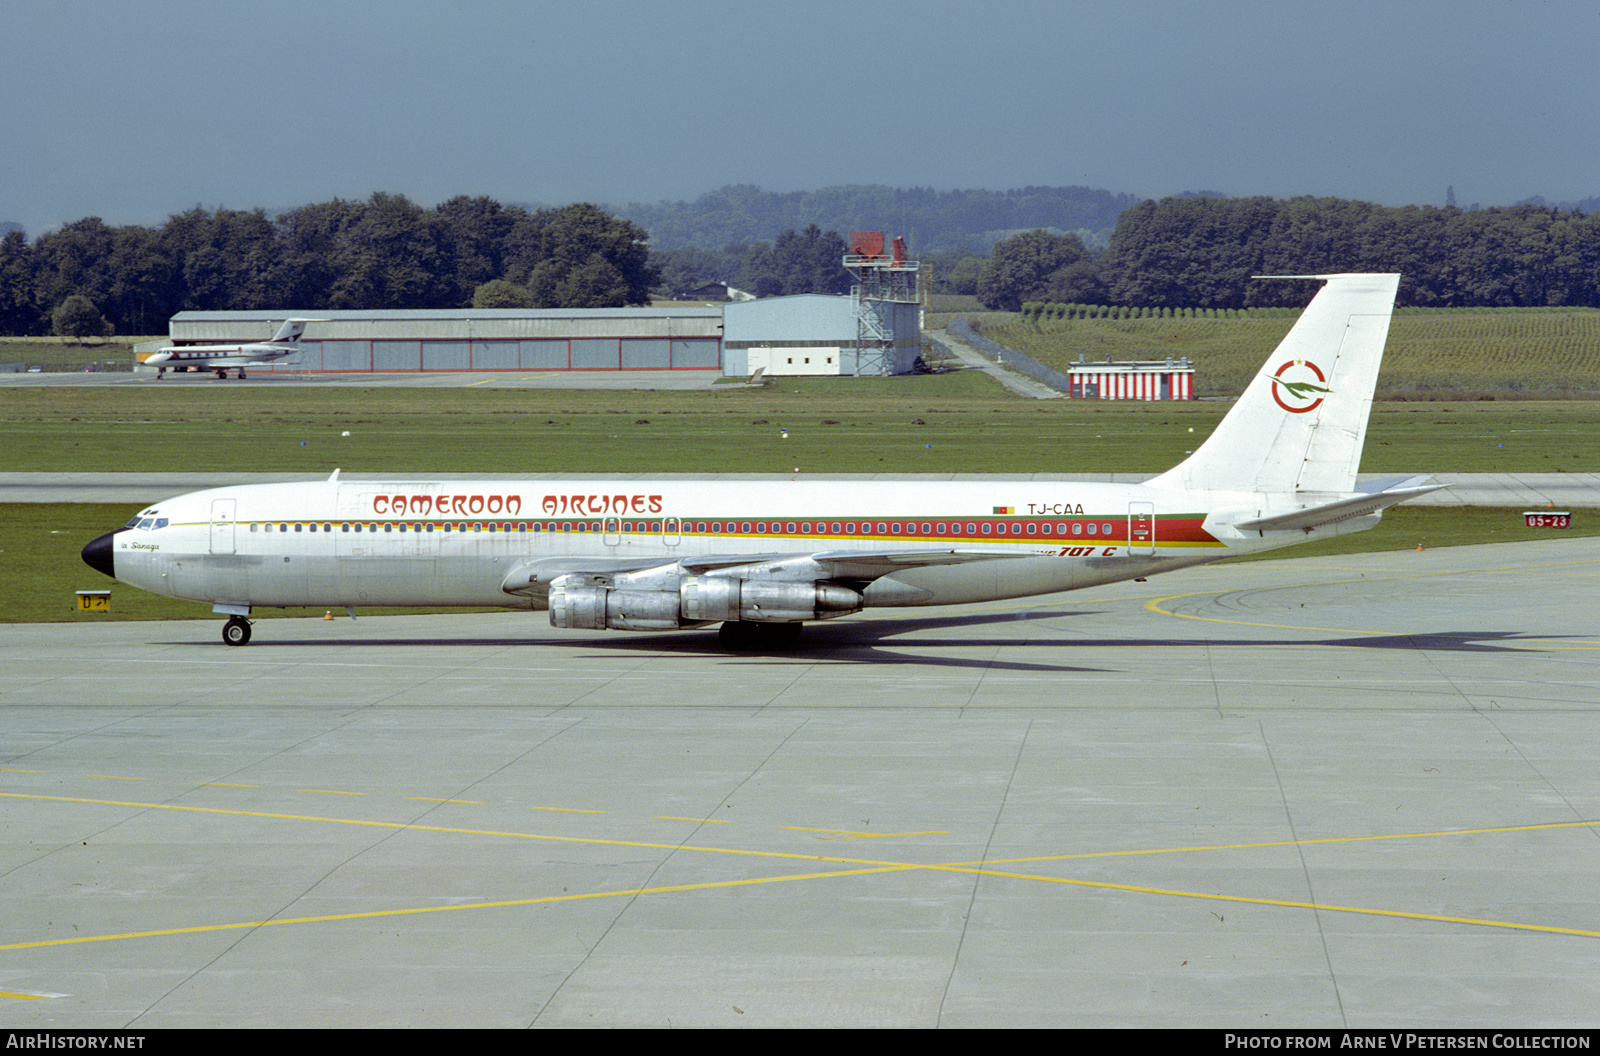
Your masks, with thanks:
<instances>
[{"instance_id":1,"label":"hazy grey-blue sky above the trees and hills","mask_svg":"<svg viewBox=\"0 0 1600 1056\"><path fill-rule=\"evenodd\" d=\"M1600 195L1592 0L0 0L0 221L725 184Z\"/></svg>"}]
</instances>

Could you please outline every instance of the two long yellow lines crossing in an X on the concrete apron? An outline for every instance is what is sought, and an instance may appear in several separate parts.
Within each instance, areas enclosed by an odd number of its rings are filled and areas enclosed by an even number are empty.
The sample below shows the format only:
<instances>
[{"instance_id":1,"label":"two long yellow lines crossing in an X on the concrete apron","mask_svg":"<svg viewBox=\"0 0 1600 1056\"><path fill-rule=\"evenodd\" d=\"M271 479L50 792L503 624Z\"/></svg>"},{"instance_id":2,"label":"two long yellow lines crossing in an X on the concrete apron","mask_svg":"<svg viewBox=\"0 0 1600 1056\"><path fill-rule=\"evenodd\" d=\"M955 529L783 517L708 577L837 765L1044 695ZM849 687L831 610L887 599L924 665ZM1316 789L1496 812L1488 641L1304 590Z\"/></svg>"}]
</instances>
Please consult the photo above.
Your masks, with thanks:
<instances>
[{"instance_id":1,"label":"two long yellow lines crossing in an X on the concrete apron","mask_svg":"<svg viewBox=\"0 0 1600 1056\"><path fill-rule=\"evenodd\" d=\"M163 936L163 934L192 934L192 933L200 933L200 931L226 931L226 930L256 928L256 926L270 926L270 925L283 925L283 923L325 923L325 922L333 922L333 920L360 920L360 918L368 918L368 917L395 917L395 915L416 915L416 914L429 914L429 912L453 912L453 910L459 910L459 909L494 909L494 907L507 907L507 906L533 906L533 904L541 904L541 902L563 902L563 901L579 901L579 899L594 899L594 898L618 898L618 896L634 896L634 894L666 894L666 893L674 893L674 891L699 891L699 890L728 888L728 886L749 886L749 885L755 885L755 883L784 883L784 882L792 882L792 880L819 880L819 878L853 877L853 875L867 875L867 874L880 874L880 872L912 872L912 870L962 872L962 874L971 874L971 875L1005 877L1005 878L1013 878L1013 880L1034 880L1034 882L1038 882L1038 883L1059 883L1059 885L1067 885L1067 886L1099 888L1099 890L1109 890L1109 891L1130 891L1130 893L1136 893L1136 894L1163 894L1163 896L1168 896L1168 898L1189 898L1189 899L1221 901L1221 902L1245 902L1245 904L1256 904L1256 906L1280 906L1280 907L1288 907L1288 909L1314 909L1314 910L1323 910L1323 912L1357 914L1357 915L1371 915L1371 917L1398 917L1398 918L1429 920L1429 922L1440 922L1440 923L1464 923L1464 925L1485 926L1485 928L1506 928L1506 930L1515 930L1515 931L1544 931L1544 933L1554 933L1554 934L1574 934L1574 936L1584 936L1584 938L1600 938L1600 931L1592 931L1592 930L1584 930L1584 928L1558 928L1558 926L1554 926L1554 925L1530 925L1530 923L1518 923L1518 922L1507 922L1507 920L1488 920L1488 918L1477 918L1477 917L1446 917L1446 915L1440 915L1440 914L1421 914L1421 912L1411 912L1411 910L1370 909L1370 907L1362 907L1362 906L1333 906L1333 904L1304 902L1304 901L1294 901L1294 899L1270 899L1270 898L1243 896L1243 894L1216 894L1216 893L1210 893L1210 891L1181 891L1181 890L1173 890L1173 888L1150 888L1150 886L1142 886L1142 885L1109 883L1109 882L1098 882L1098 880L1072 880L1072 878L1067 878L1067 877L1048 877L1048 875L1040 875L1040 874L1019 874L1019 872L1008 872L1008 870L994 869L994 866L997 866L997 864L1013 864L1013 862L1019 862L1019 861L1051 861L1051 859L1061 861L1061 859L1070 859L1070 858L1115 858L1115 856L1123 856L1123 854L1160 854L1160 853L1181 853L1181 851L1190 851L1190 850L1251 850L1251 848L1266 848L1266 846L1296 846L1296 845L1314 845L1314 843L1355 843L1355 842L1370 842L1370 840L1406 840L1406 838L1442 837L1442 835L1475 835L1475 834L1491 834L1491 832L1526 832L1526 830L1538 830L1538 829L1578 829L1578 827L1595 827L1595 826L1600 826L1600 822L1597 822L1597 821L1544 822L1544 824L1533 824L1533 826L1502 826L1502 827L1493 827L1493 829L1448 829L1448 830L1438 830L1438 832L1387 834L1387 835L1365 835L1365 837L1323 837L1323 838L1312 838L1312 840L1278 840L1278 842L1270 842L1270 843L1237 843L1237 845L1227 845L1227 843L1224 843L1224 845L1203 846L1203 848L1166 848L1166 850L1146 850L1146 851L1102 851L1102 853L1085 853L1085 854L1056 854L1056 856L1029 858L1029 859L1005 859L1005 861L995 861L995 862L978 861L978 862L926 862L926 864L920 864L920 862L886 862L886 861L875 861L875 859L838 858L838 856L824 856L824 854L797 854L797 853L787 853L787 851L755 851L755 850L746 850L746 848L683 846L683 845L675 845L675 843L654 843L654 842L643 842L643 840L602 840L602 838L592 838L592 837L552 837L552 835L531 834L531 832L502 832L502 830L483 830L483 829L453 829L453 827L445 827L445 826L411 826L411 824L402 824L402 822L362 821L362 819L349 819L349 818L314 818L314 816L299 816L299 814L272 814L272 813L264 813L264 811L218 810L218 808L208 808L208 806L179 806L179 805L171 805L171 803L126 803L126 802L117 802L117 800L90 800L90 798L62 797L62 795L27 795L27 794L18 794L18 792L0 792L0 797L5 797L5 798L21 798L21 800L66 802L66 803L98 803L98 805L112 805L112 806L141 806L141 808L146 808L146 810L174 810L174 811L200 813L200 814L234 814L234 816L246 816L246 818L274 818L274 819L288 819L288 821L317 821L317 822L326 822L326 824L368 826L368 827L378 827L378 829L410 829L410 830L416 830L416 832L453 832L453 834L467 834L467 835L499 835L499 837L512 837L512 838L525 838L525 840L549 840L549 842L555 842L555 843L597 843L597 845L611 845L611 846L643 846L643 848L658 848L658 850L672 850L672 851L702 851L702 853L714 853L714 854L741 854L741 856L747 856L747 858L802 859L802 861L818 861L818 862L835 862L835 864L858 866L858 869L837 870L837 872L810 872L810 874L794 874L794 875L782 875L782 877L758 877L758 878L750 878L750 880L728 880L728 882L710 882L710 883L691 883L691 885L677 885L677 886L666 886L666 888L635 888L635 890L627 890L627 891L594 891L594 893L587 893L587 894L562 894L562 896L544 896L544 898L533 898L533 899L512 899L512 901L499 901L499 902L474 902L474 904L462 904L462 906L424 906L424 907L400 909L400 910L368 910L368 912L358 912L358 914L336 914L336 915L328 915L328 917L296 917L296 918L280 918L280 920L254 920L254 922L237 922L237 923L229 923L229 925L197 925L197 926L192 926L192 928L170 928L170 930L162 930L162 931L138 931L138 933L125 933L125 934L80 936L80 938L72 938L72 939L45 939L45 941L35 941L35 942L13 942L13 944L8 944L8 946L0 946L0 950L8 950L8 949L32 949L32 947L40 947L40 946L72 946L72 944L78 944L78 942L104 942L104 941L110 941L110 939L152 938L152 936Z\"/></svg>"}]
</instances>

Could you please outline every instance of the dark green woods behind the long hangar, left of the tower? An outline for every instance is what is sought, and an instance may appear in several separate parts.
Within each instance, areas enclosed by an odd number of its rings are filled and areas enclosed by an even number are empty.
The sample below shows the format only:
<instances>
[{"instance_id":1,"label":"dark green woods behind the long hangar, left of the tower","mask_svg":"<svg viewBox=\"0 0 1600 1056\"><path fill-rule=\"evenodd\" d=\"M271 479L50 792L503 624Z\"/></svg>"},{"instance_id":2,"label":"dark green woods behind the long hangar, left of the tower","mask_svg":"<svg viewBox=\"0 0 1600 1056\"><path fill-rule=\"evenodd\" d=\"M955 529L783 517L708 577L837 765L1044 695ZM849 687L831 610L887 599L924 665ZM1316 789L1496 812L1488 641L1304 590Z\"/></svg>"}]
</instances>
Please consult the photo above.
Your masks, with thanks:
<instances>
[{"instance_id":1,"label":"dark green woods behind the long hangar, left of the tower","mask_svg":"<svg viewBox=\"0 0 1600 1056\"><path fill-rule=\"evenodd\" d=\"M530 211L482 197L427 210L374 194L277 216L194 208L160 227L91 216L32 243L0 238L0 333L48 333L69 298L123 334L163 333L181 310L490 307L496 294L515 307L648 304L659 272L646 238L595 205Z\"/></svg>"}]
</instances>

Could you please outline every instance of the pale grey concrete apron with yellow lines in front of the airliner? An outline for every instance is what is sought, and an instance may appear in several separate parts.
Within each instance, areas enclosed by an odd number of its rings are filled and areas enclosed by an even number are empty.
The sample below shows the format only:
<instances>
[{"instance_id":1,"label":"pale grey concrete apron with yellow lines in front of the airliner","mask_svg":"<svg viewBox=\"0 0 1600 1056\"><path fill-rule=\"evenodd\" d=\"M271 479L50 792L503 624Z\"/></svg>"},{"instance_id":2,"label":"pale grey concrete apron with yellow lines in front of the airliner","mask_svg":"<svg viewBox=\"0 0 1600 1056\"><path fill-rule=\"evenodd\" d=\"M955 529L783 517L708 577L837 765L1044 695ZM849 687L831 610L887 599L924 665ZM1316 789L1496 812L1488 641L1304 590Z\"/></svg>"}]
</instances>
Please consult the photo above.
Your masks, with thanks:
<instances>
[{"instance_id":1,"label":"pale grey concrete apron with yellow lines in front of the airliner","mask_svg":"<svg viewBox=\"0 0 1600 1056\"><path fill-rule=\"evenodd\" d=\"M1595 1027L1597 587L8 626L0 1026Z\"/></svg>"}]
</instances>

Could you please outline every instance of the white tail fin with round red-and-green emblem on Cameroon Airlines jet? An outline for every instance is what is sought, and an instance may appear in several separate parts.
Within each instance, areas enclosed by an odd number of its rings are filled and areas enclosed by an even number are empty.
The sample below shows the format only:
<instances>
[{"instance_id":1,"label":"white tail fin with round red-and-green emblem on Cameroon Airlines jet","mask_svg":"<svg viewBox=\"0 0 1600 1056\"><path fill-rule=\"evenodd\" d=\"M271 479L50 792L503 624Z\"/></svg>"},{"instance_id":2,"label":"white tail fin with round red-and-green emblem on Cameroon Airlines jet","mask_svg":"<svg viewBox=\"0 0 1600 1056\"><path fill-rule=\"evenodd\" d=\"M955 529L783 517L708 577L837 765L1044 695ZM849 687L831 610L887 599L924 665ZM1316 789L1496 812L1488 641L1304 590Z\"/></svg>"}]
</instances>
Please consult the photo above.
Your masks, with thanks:
<instances>
[{"instance_id":1,"label":"white tail fin with round red-and-green emblem on Cameroon Airlines jet","mask_svg":"<svg viewBox=\"0 0 1600 1056\"><path fill-rule=\"evenodd\" d=\"M1200 448L1150 485L1354 491L1400 275L1322 278L1272 358Z\"/></svg>"}]
</instances>

